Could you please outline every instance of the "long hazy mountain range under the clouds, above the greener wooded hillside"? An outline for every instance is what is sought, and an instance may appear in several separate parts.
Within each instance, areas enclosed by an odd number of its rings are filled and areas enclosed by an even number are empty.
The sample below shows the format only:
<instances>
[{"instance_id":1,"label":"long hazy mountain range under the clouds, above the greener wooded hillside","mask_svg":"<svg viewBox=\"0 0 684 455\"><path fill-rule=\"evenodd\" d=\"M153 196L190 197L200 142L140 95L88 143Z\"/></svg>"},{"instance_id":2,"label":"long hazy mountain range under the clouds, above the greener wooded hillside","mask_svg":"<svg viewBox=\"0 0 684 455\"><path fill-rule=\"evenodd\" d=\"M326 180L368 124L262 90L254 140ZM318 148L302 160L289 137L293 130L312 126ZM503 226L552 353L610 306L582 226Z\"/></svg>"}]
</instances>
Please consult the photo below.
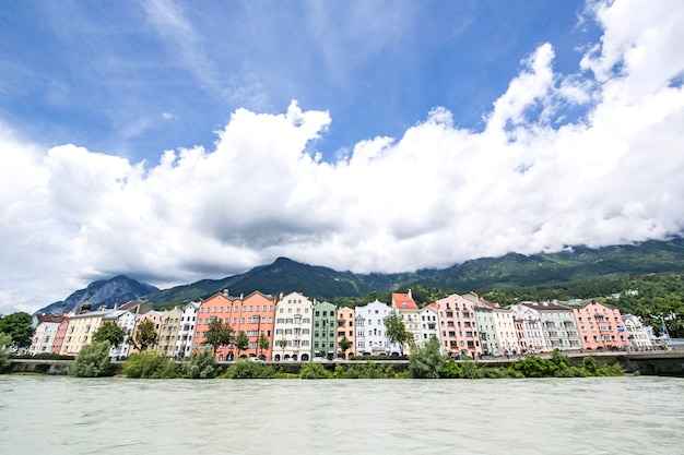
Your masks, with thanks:
<instances>
[{"instance_id":1,"label":"long hazy mountain range under the clouds, above the greener wooded hillside","mask_svg":"<svg viewBox=\"0 0 684 455\"><path fill-rule=\"evenodd\" d=\"M445 270L404 274L354 274L279 258L270 265L255 267L244 274L223 279L202 279L164 290L117 276L107 282L93 283L64 301L51 303L38 312L61 313L87 300L93 308L101 304L111 308L114 303L125 303L139 297L146 298L158 308L197 301L224 289L233 296L255 290L271 295L296 290L312 298L334 300L415 285L464 292L660 272L684 272L684 238L601 249L574 247L551 254L510 253L502 258L467 261Z\"/></svg>"}]
</instances>

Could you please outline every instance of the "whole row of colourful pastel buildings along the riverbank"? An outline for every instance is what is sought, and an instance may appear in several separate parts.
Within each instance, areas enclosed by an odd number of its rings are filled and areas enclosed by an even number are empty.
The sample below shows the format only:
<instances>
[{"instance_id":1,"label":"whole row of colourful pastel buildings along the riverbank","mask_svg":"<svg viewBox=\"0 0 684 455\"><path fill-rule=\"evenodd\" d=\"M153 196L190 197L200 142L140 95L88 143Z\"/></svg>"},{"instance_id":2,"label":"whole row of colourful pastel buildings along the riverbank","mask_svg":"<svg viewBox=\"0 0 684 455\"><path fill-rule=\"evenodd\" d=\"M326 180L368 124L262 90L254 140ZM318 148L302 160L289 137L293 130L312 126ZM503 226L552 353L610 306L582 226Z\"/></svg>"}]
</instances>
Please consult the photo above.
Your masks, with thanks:
<instances>
[{"instance_id":1,"label":"whole row of colourful pastel buildings along the riverbank","mask_svg":"<svg viewBox=\"0 0 684 455\"><path fill-rule=\"evenodd\" d=\"M76 355L105 323L123 327L135 339L142 321L154 324L157 343L151 347L169 358L187 358L207 346L213 321L245 332L247 349L234 345L216 349L216 360L258 357L272 361L309 361L314 358L351 358L359 355L408 354L412 344L390 343L385 319L397 313L413 345L432 337L452 357L481 358L558 350L650 349L652 330L638 318L597 300L522 302L503 308L475 294L450 295L418 307L406 294L392 294L389 303L378 300L356 308L338 308L299 292L273 297L255 291L247 297L227 290L207 300L173 310L155 311L152 303L131 301L114 309L81 309L61 316L36 316L30 354ZM263 337L262 337L263 335ZM267 344L259 343L266 338ZM134 344L111 347L113 358L137 351Z\"/></svg>"}]
</instances>

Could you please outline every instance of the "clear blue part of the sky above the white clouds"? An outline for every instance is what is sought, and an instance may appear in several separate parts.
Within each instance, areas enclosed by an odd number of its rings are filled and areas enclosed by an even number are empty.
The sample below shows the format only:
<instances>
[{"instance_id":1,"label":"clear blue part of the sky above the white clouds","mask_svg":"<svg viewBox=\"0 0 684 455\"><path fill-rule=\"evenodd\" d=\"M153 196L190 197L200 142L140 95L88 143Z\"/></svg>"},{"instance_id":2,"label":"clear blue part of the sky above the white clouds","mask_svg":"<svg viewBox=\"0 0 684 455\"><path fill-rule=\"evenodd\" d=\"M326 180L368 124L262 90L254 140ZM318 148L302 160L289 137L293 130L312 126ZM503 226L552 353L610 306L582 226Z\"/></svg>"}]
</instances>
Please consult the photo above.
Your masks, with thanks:
<instances>
[{"instance_id":1,"label":"clear blue part of the sky above the white clouds","mask_svg":"<svg viewBox=\"0 0 684 455\"><path fill-rule=\"evenodd\" d=\"M598 29L579 1L10 2L0 116L47 146L155 164L207 147L240 107L298 100L332 123L326 159L401 136L436 106L482 130L521 59L542 43L574 71Z\"/></svg>"}]
</instances>

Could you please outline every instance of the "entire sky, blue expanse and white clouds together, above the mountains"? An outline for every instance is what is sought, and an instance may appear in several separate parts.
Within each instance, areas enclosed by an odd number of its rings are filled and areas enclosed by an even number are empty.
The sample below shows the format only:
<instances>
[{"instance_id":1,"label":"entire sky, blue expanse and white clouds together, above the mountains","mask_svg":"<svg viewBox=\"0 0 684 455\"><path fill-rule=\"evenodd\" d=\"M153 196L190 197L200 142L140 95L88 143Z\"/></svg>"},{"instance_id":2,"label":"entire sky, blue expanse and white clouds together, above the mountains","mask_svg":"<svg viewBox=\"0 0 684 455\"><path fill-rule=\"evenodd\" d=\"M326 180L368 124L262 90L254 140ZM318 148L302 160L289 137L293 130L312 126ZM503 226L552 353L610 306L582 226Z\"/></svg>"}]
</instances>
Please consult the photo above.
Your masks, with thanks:
<instances>
[{"instance_id":1,"label":"entire sky, blue expanse and white clouds together, above the mountains","mask_svg":"<svg viewBox=\"0 0 684 455\"><path fill-rule=\"evenodd\" d=\"M681 235L684 3L0 9L0 314Z\"/></svg>"}]
</instances>

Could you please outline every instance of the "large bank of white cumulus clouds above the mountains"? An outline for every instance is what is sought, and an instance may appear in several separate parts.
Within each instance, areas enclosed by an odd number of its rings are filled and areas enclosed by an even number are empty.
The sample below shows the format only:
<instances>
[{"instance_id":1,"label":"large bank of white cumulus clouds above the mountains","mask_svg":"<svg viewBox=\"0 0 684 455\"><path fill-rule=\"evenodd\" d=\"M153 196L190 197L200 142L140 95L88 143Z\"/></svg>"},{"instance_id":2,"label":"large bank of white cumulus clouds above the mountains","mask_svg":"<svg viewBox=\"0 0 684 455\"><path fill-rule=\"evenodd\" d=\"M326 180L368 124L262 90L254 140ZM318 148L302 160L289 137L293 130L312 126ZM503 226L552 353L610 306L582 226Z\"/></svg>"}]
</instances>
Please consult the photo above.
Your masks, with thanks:
<instances>
[{"instance_id":1,"label":"large bank of white cumulus clouds above the mountains","mask_svg":"<svg viewBox=\"0 0 684 455\"><path fill-rule=\"evenodd\" d=\"M43 151L3 129L0 280L23 291L0 292L0 306L39 307L116 273L165 286L279 255L399 272L680 234L682 9L612 2L594 13L605 33L577 72L554 72L542 44L483 131L437 107L403 136L362 141L332 163L315 153L330 115L296 101L279 115L237 109L211 149L154 164ZM568 105L585 115L564 120Z\"/></svg>"}]
</instances>

